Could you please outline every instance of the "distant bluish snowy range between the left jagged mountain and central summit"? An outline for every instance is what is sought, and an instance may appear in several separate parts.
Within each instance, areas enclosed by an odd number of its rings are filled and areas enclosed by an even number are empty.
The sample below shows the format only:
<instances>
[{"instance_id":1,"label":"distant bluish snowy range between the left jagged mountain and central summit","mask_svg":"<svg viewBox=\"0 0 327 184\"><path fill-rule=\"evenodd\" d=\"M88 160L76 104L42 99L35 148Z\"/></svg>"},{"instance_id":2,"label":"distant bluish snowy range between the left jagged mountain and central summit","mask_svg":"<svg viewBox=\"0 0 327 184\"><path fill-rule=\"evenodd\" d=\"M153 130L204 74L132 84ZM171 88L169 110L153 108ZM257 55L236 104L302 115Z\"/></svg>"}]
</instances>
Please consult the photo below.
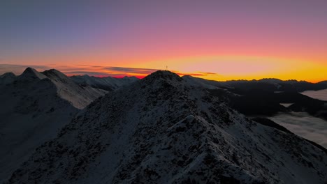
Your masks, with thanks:
<instances>
[{"instance_id":1,"label":"distant bluish snowy range between the left jagged mountain and central summit","mask_svg":"<svg viewBox=\"0 0 327 184\"><path fill-rule=\"evenodd\" d=\"M72 76L71 79L77 84L87 84L96 89L104 89L107 91L119 89L122 86L129 85L138 80L136 77L91 77L89 75L75 75Z\"/></svg>"}]
</instances>

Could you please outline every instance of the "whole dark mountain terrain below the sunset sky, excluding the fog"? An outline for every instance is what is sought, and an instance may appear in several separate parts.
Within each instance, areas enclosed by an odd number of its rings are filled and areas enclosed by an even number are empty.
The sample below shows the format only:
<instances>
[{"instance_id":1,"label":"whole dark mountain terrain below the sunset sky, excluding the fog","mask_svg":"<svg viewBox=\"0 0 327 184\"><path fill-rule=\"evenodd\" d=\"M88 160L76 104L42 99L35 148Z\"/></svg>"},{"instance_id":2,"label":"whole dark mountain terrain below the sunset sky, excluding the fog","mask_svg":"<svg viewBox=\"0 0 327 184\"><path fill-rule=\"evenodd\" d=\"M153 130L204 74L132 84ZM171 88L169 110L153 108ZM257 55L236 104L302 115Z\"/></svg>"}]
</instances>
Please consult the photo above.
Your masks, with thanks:
<instances>
[{"instance_id":1,"label":"whole dark mountain terrain below the sunset sky, excluding the fog","mask_svg":"<svg viewBox=\"0 0 327 184\"><path fill-rule=\"evenodd\" d=\"M215 82L168 71L144 79L66 77L32 68L2 75L0 178L4 183L326 183L325 148L273 121L238 112L298 109L320 116L324 102L298 91L323 85ZM281 102L293 105L275 109Z\"/></svg>"}]
</instances>

